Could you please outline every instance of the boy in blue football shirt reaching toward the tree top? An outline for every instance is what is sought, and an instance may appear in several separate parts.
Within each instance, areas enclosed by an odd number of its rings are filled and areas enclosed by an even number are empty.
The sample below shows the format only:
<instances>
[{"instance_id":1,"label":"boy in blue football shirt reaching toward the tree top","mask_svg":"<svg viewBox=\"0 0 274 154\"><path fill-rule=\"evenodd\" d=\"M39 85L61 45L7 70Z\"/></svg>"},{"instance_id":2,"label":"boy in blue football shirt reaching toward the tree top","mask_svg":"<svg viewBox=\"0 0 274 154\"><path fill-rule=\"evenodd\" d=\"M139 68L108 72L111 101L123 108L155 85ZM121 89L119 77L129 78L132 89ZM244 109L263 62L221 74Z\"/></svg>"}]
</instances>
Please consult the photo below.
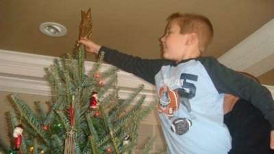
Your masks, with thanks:
<instances>
[{"instance_id":1,"label":"boy in blue football shirt reaching toward the tree top","mask_svg":"<svg viewBox=\"0 0 274 154\"><path fill-rule=\"evenodd\" d=\"M78 42L85 44L88 52L105 51L105 61L155 84L170 154L225 154L231 149L229 131L223 124L223 93L251 100L274 126L269 90L219 64L214 57L200 57L213 38L208 18L175 13L168 22L161 38L166 60L142 60L90 40Z\"/></svg>"}]
</instances>

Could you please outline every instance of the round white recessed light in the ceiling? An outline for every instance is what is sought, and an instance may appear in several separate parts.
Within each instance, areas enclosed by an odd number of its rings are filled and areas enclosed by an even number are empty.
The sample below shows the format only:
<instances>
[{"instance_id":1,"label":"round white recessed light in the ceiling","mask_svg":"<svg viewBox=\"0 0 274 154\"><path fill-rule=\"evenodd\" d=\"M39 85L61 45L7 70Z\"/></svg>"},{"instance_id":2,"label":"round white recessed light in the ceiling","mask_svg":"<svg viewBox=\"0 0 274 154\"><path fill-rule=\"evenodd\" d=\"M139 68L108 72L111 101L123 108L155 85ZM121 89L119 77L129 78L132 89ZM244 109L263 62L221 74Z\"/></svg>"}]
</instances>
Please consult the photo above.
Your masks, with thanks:
<instances>
[{"instance_id":1,"label":"round white recessed light in the ceiling","mask_svg":"<svg viewBox=\"0 0 274 154\"><path fill-rule=\"evenodd\" d=\"M46 34L48 36L64 36L66 34L66 27L59 23L42 23L39 27L40 31L42 31L43 34Z\"/></svg>"}]
</instances>

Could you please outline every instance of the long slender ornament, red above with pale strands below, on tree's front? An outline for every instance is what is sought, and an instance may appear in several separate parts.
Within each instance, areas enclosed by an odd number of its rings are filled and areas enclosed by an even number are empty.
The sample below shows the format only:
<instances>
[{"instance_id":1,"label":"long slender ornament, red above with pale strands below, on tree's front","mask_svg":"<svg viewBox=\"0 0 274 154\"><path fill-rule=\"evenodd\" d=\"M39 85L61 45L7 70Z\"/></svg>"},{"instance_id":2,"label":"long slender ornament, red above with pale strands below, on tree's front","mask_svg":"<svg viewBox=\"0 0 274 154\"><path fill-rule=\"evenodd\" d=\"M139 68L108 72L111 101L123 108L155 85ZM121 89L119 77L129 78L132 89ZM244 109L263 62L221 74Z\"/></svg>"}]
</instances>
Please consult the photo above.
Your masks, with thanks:
<instances>
[{"instance_id":1,"label":"long slender ornament, red above with pale strands below, on tree's front","mask_svg":"<svg viewBox=\"0 0 274 154\"><path fill-rule=\"evenodd\" d=\"M71 131L66 132L67 138L65 140L64 144L64 154L75 154L75 138L74 138L74 132L73 132L73 126L74 126L74 96L73 101L71 103L71 107L69 108L69 116L71 118Z\"/></svg>"}]
</instances>

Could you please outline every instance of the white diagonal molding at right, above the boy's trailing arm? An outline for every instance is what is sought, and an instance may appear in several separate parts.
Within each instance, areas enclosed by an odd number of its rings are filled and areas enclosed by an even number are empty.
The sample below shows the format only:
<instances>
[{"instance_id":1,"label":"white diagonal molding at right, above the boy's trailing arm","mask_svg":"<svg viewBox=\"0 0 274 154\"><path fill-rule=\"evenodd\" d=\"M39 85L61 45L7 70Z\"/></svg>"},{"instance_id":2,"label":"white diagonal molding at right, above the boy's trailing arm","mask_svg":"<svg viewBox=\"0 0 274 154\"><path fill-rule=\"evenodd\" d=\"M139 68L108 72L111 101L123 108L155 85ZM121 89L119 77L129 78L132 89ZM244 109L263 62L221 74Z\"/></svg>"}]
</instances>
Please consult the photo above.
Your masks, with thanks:
<instances>
[{"instance_id":1,"label":"white diagonal molding at right, above the boy's trailing arm","mask_svg":"<svg viewBox=\"0 0 274 154\"><path fill-rule=\"evenodd\" d=\"M274 18L219 57L219 62L229 68L245 71L256 77L273 69L273 29Z\"/></svg>"}]
</instances>

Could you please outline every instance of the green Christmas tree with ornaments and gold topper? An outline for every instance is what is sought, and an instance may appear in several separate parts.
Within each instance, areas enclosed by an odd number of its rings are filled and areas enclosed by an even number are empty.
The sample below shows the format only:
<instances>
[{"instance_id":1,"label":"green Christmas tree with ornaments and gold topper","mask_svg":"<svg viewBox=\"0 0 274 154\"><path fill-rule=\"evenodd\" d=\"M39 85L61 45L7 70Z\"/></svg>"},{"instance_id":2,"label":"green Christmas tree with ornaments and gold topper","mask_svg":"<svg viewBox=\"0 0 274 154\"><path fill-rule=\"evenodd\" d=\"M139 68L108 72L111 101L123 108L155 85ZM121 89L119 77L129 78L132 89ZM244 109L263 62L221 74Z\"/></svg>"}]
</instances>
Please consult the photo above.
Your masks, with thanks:
<instances>
[{"instance_id":1,"label":"green Christmas tree with ornaments and gold topper","mask_svg":"<svg viewBox=\"0 0 274 154\"><path fill-rule=\"evenodd\" d=\"M82 12L79 37L90 37L90 10ZM154 109L156 101L143 107L145 96L133 105L140 86L127 99L119 98L117 68L101 72L103 54L92 70L85 72L85 48L56 58L45 68L52 100L46 110L36 102L33 111L18 94L12 94L14 111L10 112L13 147L2 147L0 153L136 153L138 125ZM151 151L151 137L140 153ZM156 153L162 153L160 149Z\"/></svg>"}]
</instances>

